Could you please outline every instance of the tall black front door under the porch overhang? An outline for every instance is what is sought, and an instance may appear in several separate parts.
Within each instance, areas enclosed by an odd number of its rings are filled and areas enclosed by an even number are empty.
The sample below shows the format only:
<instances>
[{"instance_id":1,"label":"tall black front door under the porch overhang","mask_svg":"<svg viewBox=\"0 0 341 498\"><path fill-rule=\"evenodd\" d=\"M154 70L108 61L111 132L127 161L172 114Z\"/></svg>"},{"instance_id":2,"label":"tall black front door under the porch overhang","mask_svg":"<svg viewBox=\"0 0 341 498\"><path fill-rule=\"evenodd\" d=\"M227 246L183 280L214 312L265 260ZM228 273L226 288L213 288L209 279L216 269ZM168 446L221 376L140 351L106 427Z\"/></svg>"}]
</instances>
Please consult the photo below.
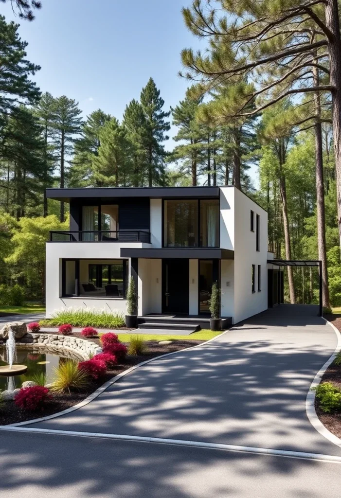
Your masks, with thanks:
<instances>
[{"instance_id":1,"label":"tall black front door under the porch overhang","mask_svg":"<svg viewBox=\"0 0 341 498\"><path fill-rule=\"evenodd\" d=\"M188 313L189 260L162 259L162 313Z\"/></svg>"}]
</instances>

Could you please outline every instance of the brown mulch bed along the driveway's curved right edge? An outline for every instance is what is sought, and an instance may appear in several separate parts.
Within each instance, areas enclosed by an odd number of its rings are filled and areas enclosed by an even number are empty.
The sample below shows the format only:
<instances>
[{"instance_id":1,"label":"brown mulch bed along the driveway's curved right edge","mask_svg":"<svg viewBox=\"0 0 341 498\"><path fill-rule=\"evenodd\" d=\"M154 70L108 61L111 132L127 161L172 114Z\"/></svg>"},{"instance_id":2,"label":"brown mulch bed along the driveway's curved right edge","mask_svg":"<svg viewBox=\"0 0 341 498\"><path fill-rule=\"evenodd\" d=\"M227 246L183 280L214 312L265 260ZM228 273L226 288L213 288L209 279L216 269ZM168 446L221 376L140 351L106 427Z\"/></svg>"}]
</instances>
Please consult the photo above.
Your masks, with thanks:
<instances>
[{"instance_id":1,"label":"brown mulch bed along the driveway's curved right edge","mask_svg":"<svg viewBox=\"0 0 341 498\"><path fill-rule=\"evenodd\" d=\"M341 315L324 315L341 332ZM321 382L332 382L341 389L341 366L330 365L323 375ZM315 399L315 409L317 416L323 425L333 434L341 438L341 413L325 413L319 407L319 400Z\"/></svg>"}]
</instances>

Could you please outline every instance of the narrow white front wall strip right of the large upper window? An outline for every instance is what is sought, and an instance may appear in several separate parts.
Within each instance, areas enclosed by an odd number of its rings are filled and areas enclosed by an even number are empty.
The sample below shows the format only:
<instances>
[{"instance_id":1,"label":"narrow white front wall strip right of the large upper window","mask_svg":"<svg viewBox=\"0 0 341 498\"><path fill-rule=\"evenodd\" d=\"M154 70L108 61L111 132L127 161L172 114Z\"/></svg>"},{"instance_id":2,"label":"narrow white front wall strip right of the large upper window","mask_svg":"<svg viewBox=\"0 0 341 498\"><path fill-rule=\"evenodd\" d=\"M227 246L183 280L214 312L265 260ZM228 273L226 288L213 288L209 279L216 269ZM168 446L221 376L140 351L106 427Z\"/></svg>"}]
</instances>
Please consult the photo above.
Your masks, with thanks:
<instances>
[{"instance_id":1,"label":"narrow white front wall strip right of the large upper window","mask_svg":"<svg viewBox=\"0 0 341 498\"><path fill-rule=\"evenodd\" d=\"M220 187L220 247L234 249L234 187Z\"/></svg>"}]
</instances>

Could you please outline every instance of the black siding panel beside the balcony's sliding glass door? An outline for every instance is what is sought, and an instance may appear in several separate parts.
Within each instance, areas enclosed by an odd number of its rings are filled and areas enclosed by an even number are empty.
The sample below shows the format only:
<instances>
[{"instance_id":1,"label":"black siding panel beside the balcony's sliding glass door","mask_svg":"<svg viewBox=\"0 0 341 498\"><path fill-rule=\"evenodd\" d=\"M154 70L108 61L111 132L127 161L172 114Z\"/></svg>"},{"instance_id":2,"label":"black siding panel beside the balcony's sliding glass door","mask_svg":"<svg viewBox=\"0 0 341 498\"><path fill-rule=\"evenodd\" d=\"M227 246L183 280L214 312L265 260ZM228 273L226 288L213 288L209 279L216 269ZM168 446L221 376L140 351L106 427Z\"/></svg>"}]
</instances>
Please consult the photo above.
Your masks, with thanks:
<instances>
[{"instance_id":1,"label":"black siding panel beside the balcony's sliding glass door","mask_svg":"<svg viewBox=\"0 0 341 498\"><path fill-rule=\"evenodd\" d=\"M119 200L118 230L149 230L149 199Z\"/></svg>"}]
</instances>

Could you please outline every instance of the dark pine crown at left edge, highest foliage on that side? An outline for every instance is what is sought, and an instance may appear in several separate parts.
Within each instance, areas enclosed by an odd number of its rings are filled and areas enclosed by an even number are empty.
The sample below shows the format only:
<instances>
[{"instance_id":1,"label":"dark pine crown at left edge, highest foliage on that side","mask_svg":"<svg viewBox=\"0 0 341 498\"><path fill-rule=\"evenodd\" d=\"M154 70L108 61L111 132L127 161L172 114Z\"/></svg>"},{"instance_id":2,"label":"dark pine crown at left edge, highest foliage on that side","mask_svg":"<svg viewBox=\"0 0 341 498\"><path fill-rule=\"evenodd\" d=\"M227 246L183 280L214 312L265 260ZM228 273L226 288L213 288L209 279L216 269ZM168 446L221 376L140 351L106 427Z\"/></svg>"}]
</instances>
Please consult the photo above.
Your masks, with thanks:
<instances>
[{"instance_id":1,"label":"dark pine crown at left edge, highest foliage on that side","mask_svg":"<svg viewBox=\"0 0 341 498\"><path fill-rule=\"evenodd\" d=\"M40 66L32 64L26 57L27 43L21 41L17 32L19 25L0 15L0 126L18 104L34 104L40 96L30 75Z\"/></svg>"}]
</instances>

